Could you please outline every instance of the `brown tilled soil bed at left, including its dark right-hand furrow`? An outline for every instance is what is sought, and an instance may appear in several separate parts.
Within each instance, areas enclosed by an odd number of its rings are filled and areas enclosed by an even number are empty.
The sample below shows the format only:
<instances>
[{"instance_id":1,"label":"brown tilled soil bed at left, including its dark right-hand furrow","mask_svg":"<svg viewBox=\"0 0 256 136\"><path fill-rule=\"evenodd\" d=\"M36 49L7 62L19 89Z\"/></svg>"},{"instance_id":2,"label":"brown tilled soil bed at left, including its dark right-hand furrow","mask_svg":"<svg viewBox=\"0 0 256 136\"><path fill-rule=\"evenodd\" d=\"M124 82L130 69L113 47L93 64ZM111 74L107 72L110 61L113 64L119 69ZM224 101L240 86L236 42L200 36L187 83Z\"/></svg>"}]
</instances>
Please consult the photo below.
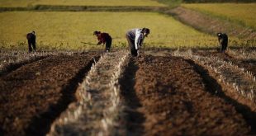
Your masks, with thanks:
<instances>
[{"instance_id":1,"label":"brown tilled soil bed at left, including its dark right-hand furrow","mask_svg":"<svg viewBox=\"0 0 256 136\"><path fill-rule=\"evenodd\" d=\"M50 56L0 77L1 133L45 135L74 101L97 53Z\"/></svg>"}]
</instances>

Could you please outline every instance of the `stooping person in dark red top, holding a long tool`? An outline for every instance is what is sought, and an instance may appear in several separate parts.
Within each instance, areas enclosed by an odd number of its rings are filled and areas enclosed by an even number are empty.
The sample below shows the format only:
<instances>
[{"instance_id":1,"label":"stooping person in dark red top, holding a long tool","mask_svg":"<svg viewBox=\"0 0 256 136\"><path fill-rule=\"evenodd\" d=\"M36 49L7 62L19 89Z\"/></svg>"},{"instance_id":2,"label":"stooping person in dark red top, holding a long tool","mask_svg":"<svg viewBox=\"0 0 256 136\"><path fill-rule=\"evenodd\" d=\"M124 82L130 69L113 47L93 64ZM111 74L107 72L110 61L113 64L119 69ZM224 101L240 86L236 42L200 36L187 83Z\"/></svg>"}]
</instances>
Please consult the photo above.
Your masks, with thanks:
<instances>
[{"instance_id":1,"label":"stooping person in dark red top, holding a long tool","mask_svg":"<svg viewBox=\"0 0 256 136\"><path fill-rule=\"evenodd\" d=\"M111 43L112 43L112 38L111 38L111 35L109 35L108 33L102 33L101 31L94 31L93 32L93 35L96 35L97 36L97 40L98 40L98 43L97 45L105 45L106 44L106 49L105 51L106 52L109 52L110 51L110 48L111 48Z\"/></svg>"}]
</instances>

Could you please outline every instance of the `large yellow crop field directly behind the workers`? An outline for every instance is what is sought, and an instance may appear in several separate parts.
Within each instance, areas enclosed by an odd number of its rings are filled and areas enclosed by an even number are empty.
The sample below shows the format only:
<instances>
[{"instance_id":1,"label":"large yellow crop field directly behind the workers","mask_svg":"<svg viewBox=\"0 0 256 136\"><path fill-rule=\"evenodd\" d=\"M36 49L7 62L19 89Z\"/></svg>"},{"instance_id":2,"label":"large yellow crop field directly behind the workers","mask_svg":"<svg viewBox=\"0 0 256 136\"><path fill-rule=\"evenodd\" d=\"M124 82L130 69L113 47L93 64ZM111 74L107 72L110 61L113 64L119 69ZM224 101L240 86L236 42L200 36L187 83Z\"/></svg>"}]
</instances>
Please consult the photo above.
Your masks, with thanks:
<instances>
[{"instance_id":1,"label":"large yellow crop field directly behind the workers","mask_svg":"<svg viewBox=\"0 0 256 136\"><path fill-rule=\"evenodd\" d=\"M33 19L31 19L33 16ZM0 13L0 47L26 49L26 33L36 30L40 49L90 49L97 43L93 30L106 31L114 46L126 45L126 31L149 27L148 46L211 47L215 36L206 35L176 21L171 16L143 12L2 12Z\"/></svg>"}]
</instances>

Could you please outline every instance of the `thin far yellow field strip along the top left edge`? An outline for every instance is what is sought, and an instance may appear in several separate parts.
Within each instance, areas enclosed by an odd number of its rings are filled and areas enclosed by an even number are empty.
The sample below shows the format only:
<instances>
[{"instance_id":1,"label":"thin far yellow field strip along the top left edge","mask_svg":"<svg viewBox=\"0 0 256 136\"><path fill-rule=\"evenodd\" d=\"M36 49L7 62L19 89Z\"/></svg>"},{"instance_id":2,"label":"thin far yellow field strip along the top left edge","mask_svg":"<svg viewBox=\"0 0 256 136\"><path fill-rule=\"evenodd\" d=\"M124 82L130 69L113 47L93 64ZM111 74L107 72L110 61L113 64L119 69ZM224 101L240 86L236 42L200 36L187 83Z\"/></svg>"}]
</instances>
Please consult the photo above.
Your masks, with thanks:
<instances>
[{"instance_id":1,"label":"thin far yellow field strip along the top left edge","mask_svg":"<svg viewBox=\"0 0 256 136\"><path fill-rule=\"evenodd\" d=\"M0 7L27 7L38 4L66 6L165 6L153 0L0 0Z\"/></svg>"}]
</instances>

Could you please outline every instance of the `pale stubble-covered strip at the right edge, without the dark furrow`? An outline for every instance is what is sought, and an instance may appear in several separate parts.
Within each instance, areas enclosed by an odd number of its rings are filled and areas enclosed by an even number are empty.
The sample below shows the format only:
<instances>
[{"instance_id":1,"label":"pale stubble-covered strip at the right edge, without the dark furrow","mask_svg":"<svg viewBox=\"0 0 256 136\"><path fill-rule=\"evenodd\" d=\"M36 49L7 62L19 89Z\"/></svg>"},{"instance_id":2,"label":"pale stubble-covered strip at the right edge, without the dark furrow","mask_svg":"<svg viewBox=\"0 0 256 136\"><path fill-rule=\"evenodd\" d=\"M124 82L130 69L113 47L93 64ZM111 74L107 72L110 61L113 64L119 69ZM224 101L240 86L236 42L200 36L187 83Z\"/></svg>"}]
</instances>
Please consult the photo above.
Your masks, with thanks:
<instances>
[{"instance_id":1,"label":"pale stubble-covered strip at the right edge, without the dark furrow","mask_svg":"<svg viewBox=\"0 0 256 136\"><path fill-rule=\"evenodd\" d=\"M222 87L225 87L227 94L233 93L234 99L249 106L252 110L256 109L256 77L254 77L252 73L244 70L244 68L239 68L234 63L227 62L216 56L204 57L201 55L194 55L191 51L175 51L173 54L192 59L209 71L212 71L213 77L218 79L218 82L222 84Z\"/></svg>"}]
</instances>

